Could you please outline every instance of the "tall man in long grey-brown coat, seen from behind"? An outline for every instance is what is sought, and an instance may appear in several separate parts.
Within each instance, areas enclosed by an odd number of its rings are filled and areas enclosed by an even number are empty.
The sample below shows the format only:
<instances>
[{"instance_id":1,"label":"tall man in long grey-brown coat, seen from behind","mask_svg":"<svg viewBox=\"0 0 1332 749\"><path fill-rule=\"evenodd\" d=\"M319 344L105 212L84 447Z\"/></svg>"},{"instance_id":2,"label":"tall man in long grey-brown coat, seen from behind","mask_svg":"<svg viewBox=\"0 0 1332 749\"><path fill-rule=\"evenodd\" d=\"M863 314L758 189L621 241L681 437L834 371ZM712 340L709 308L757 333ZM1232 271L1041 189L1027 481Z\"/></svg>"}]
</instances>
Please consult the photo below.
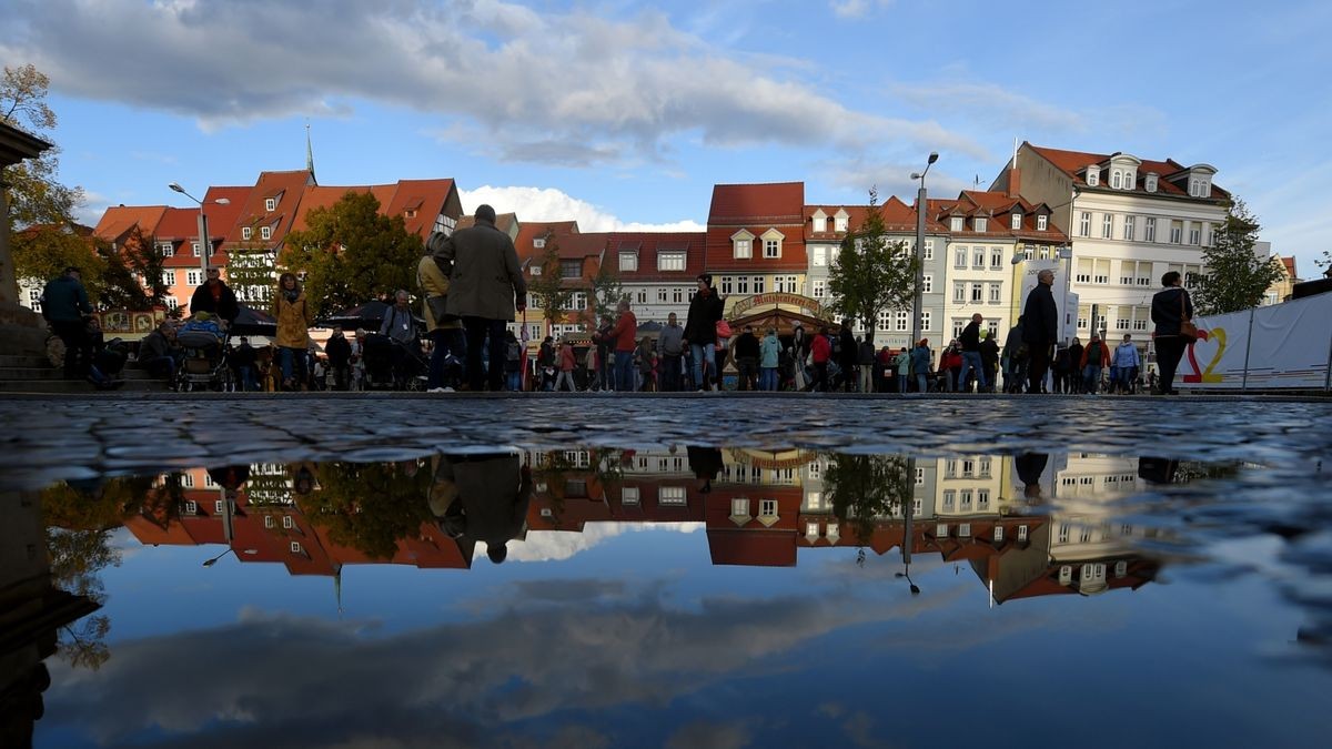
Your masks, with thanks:
<instances>
[{"instance_id":1,"label":"tall man in long grey-brown coat, seen from behind","mask_svg":"<svg viewBox=\"0 0 1332 749\"><path fill-rule=\"evenodd\" d=\"M496 209L478 205L476 225L453 235L434 232L426 243L440 269L449 277L449 315L462 317L468 336L468 386L503 389L505 324L527 308L518 252L509 235L496 228ZM489 371L481 347L489 352Z\"/></svg>"}]
</instances>

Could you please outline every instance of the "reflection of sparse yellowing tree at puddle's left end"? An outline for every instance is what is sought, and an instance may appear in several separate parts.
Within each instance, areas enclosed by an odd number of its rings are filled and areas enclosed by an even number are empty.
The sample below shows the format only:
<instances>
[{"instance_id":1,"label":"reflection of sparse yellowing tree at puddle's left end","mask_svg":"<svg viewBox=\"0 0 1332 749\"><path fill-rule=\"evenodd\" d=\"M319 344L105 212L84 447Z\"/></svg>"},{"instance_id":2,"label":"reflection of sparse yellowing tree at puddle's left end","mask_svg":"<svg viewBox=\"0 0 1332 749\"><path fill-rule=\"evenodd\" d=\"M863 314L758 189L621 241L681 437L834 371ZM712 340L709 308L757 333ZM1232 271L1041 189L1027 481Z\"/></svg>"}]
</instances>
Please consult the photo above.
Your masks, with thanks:
<instances>
[{"instance_id":1,"label":"reflection of sparse yellowing tree at puddle's left end","mask_svg":"<svg viewBox=\"0 0 1332 749\"><path fill-rule=\"evenodd\" d=\"M120 565L120 552L109 545L111 530L143 505L151 489L151 477L125 477L68 482L44 490L41 509L52 585L87 596L97 605L105 604L100 573L107 566ZM75 668L101 668L111 658L109 632L111 620L105 616L89 616L64 626L60 657Z\"/></svg>"}]
</instances>

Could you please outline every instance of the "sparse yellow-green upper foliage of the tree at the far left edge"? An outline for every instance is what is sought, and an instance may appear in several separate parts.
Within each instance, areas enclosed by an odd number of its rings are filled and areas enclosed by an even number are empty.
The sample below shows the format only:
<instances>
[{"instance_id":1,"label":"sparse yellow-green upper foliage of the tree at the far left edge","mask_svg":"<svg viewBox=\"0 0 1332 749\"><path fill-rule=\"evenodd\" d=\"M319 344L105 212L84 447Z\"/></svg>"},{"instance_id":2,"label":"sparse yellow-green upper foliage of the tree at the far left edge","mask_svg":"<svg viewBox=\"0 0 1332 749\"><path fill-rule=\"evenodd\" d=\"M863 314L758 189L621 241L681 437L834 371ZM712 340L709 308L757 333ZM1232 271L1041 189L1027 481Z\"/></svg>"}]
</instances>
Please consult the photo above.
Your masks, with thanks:
<instances>
[{"instance_id":1,"label":"sparse yellow-green upper foliage of the tree at the far left edge","mask_svg":"<svg viewBox=\"0 0 1332 749\"><path fill-rule=\"evenodd\" d=\"M0 123L49 140L56 128L56 113L47 105L51 81L33 65L5 65L0 79ZM73 221L75 208L83 201L81 188L68 188L56 181L60 149L51 148L39 159L5 167L0 175L9 200L9 228L39 224L65 225Z\"/></svg>"}]
</instances>

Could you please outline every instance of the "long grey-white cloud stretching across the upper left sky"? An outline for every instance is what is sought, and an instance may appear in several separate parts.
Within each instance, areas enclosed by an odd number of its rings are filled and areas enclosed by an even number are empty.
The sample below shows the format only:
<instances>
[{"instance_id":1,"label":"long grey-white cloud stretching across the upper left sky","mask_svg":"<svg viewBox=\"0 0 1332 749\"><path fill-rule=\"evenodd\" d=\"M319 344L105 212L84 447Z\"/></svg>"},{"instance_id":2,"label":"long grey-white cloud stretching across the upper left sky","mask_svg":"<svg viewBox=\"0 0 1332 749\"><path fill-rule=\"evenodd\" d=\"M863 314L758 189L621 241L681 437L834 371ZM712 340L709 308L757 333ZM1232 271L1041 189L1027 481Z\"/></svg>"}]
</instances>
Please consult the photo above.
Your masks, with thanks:
<instances>
[{"instance_id":1,"label":"long grey-white cloud stretching across the upper left sky","mask_svg":"<svg viewBox=\"0 0 1332 749\"><path fill-rule=\"evenodd\" d=\"M356 101L485 132L502 157L586 165L707 145L883 139L983 155L935 123L864 113L794 67L727 56L654 11L603 17L500 0L12 0L0 57L59 91L193 116L205 127L340 116ZM128 41L127 41L128 40ZM127 43L133 52L127 51Z\"/></svg>"}]
</instances>

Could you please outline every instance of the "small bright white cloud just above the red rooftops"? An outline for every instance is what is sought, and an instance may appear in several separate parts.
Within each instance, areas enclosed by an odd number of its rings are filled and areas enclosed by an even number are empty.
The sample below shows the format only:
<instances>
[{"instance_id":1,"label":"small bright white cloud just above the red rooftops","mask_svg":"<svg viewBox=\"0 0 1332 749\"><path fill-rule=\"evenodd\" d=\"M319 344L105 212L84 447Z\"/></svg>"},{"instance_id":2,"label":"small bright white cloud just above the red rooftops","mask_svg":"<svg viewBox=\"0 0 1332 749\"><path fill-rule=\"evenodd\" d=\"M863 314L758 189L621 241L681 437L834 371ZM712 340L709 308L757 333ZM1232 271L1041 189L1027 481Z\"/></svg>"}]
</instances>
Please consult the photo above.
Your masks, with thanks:
<instances>
[{"instance_id":1,"label":"small bright white cloud just above the red rooftops","mask_svg":"<svg viewBox=\"0 0 1332 749\"><path fill-rule=\"evenodd\" d=\"M702 232L691 219L663 224L623 221L618 216L554 188L480 187L458 191L462 209L472 213L482 203L500 213L517 213L519 221L578 221L582 232Z\"/></svg>"}]
</instances>

